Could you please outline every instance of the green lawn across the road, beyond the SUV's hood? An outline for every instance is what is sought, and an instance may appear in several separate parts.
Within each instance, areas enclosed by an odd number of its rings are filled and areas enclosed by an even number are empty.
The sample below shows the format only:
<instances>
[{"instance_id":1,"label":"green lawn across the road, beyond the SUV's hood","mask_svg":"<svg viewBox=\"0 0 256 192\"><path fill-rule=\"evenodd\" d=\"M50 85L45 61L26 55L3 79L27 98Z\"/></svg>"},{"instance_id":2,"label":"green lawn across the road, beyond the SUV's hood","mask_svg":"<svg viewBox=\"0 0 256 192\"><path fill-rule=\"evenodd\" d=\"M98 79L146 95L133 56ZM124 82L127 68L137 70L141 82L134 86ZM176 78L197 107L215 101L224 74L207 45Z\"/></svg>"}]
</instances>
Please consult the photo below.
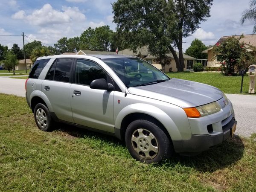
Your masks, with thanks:
<instances>
[{"instance_id":1,"label":"green lawn across the road, beyond the SUV's hood","mask_svg":"<svg viewBox=\"0 0 256 192\"><path fill-rule=\"evenodd\" d=\"M241 76L224 76L221 73L190 73L190 72L176 72L166 73L169 77L177 79L185 79L189 81L196 81L205 83L219 88L224 93L240 93ZM249 94L249 76L244 76L242 93Z\"/></svg>"}]
</instances>

